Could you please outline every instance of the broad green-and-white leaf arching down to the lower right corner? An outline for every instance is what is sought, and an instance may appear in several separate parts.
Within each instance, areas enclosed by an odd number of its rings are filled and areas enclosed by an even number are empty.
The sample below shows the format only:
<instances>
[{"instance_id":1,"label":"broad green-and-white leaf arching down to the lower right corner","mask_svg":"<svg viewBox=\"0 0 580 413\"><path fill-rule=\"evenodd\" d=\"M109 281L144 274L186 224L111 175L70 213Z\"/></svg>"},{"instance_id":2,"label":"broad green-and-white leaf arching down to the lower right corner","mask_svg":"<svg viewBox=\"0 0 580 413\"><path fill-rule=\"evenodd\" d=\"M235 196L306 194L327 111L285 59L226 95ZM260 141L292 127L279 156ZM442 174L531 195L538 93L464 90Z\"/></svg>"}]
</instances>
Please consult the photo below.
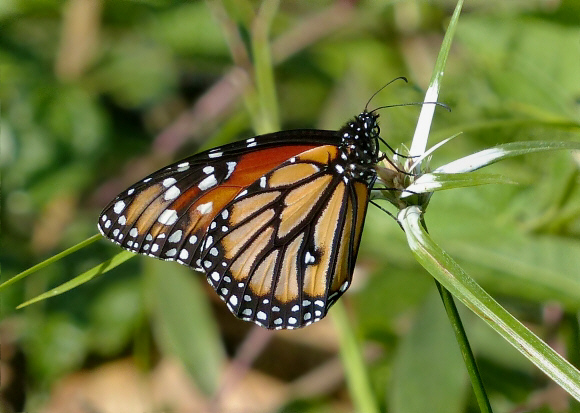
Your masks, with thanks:
<instances>
[{"instance_id":1,"label":"broad green-and-white leaf arching down to the lower right corner","mask_svg":"<svg viewBox=\"0 0 580 413\"><path fill-rule=\"evenodd\" d=\"M455 297L481 317L510 344L574 398L580 400L580 372L515 319L425 232L421 211L409 207L399 214L407 241L419 263Z\"/></svg>"}]
</instances>

